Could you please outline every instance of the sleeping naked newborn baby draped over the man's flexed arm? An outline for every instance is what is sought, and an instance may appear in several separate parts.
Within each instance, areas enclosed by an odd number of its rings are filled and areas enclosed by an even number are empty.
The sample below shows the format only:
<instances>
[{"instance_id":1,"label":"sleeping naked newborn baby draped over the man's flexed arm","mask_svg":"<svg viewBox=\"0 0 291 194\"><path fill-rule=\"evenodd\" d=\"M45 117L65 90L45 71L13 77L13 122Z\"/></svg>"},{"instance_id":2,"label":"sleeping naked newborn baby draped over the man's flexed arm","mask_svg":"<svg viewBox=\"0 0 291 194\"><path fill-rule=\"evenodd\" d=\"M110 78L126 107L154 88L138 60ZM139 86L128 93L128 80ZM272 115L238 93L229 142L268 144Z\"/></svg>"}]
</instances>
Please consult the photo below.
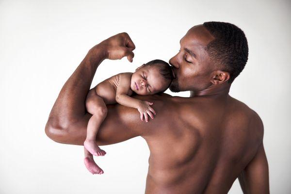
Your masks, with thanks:
<instances>
[{"instance_id":1,"label":"sleeping naked newborn baby draped over the man's flexed arm","mask_svg":"<svg viewBox=\"0 0 291 194\"><path fill-rule=\"evenodd\" d=\"M148 122L148 115L154 118L156 114L151 107L152 102L139 100L130 97L136 93L138 95L153 95L164 92L171 81L173 74L168 63L162 60L153 60L138 67L134 73L120 73L107 80L104 80L92 88L86 98L86 109L92 114L87 126L87 137L84 142L86 168L92 174L103 174L103 170L96 165L94 156L104 156L106 152L96 144L96 135L101 123L107 115L106 104L116 102L136 108L140 113L141 120Z\"/></svg>"}]
</instances>

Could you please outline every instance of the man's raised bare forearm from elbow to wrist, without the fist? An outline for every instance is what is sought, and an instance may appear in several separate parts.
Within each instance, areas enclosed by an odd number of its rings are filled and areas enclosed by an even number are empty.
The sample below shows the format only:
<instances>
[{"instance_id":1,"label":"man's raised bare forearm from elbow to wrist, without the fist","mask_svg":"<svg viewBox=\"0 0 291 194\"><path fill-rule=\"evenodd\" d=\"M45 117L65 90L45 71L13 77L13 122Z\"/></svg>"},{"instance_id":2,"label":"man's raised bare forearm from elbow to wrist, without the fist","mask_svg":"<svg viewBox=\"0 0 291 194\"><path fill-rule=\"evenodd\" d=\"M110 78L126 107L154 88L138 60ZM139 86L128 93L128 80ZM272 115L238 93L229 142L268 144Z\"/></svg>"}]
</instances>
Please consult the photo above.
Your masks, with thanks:
<instances>
[{"instance_id":1,"label":"man's raised bare forearm from elbow to wrist, without the fist","mask_svg":"<svg viewBox=\"0 0 291 194\"><path fill-rule=\"evenodd\" d=\"M97 67L104 59L104 51L98 45L88 51L81 64L65 82L49 114L47 125L66 129L86 113L84 101Z\"/></svg>"}]
</instances>

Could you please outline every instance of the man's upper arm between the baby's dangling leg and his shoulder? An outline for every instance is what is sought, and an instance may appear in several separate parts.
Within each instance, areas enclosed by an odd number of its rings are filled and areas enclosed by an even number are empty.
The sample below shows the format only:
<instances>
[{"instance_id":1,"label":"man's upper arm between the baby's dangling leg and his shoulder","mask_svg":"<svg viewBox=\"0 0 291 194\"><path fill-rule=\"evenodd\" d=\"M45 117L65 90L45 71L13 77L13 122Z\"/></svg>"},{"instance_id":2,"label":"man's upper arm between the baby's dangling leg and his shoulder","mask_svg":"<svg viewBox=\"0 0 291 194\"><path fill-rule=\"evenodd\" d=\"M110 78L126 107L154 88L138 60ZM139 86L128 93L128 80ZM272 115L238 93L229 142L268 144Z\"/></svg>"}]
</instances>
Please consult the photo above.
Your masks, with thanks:
<instances>
[{"instance_id":1,"label":"man's upper arm between the baby's dangling leg and his shoulder","mask_svg":"<svg viewBox=\"0 0 291 194\"><path fill-rule=\"evenodd\" d=\"M140 114L135 108L120 104L109 105L107 106L107 117L100 126L96 137L98 145L116 144L133 137L150 135L157 126L164 122L164 109L162 109L164 102L157 99L162 97L135 96L134 98L154 101L153 107L157 109L158 115L149 122L145 122L140 120Z\"/></svg>"}]
</instances>

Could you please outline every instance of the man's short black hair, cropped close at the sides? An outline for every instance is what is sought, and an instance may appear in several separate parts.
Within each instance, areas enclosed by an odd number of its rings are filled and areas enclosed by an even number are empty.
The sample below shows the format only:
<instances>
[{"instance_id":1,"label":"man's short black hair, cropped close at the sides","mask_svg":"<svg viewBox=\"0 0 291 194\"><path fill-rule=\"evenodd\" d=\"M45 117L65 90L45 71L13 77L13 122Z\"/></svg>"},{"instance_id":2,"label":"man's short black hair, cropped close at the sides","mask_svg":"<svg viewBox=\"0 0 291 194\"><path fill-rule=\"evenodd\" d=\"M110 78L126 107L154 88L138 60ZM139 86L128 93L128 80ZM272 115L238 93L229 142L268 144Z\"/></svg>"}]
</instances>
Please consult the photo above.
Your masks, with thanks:
<instances>
[{"instance_id":1,"label":"man's short black hair, cropped close at the sides","mask_svg":"<svg viewBox=\"0 0 291 194\"><path fill-rule=\"evenodd\" d=\"M248 59L248 45L244 32L226 22L204 22L203 26L215 38L207 45L210 60L230 74L229 83L242 72Z\"/></svg>"}]
</instances>

